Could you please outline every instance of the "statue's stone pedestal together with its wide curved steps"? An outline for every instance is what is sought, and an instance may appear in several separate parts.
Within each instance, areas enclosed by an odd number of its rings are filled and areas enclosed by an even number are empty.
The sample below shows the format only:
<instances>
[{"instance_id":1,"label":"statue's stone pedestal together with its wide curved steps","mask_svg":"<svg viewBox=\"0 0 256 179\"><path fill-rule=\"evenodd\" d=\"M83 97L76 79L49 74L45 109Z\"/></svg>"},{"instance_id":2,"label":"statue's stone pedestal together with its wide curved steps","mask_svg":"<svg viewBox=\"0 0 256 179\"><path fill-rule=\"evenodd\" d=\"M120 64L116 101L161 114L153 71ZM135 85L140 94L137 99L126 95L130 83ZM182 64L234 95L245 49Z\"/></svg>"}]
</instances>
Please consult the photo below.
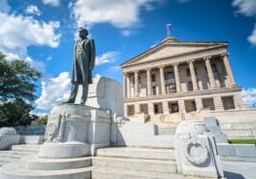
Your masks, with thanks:
<instances>
[{"instance_id":1,"label":"statue's stone pedestal together with its wide curved steps","mask_svg":"<svg viewBox=\"0 0 256 179\"><path fill-rule=\"evenodd\" d=\"M52 110L39 155L0 168L1 179L90 179L95 149L110 145L111 115L85 105Z\"/></svg>"}]
</instances>

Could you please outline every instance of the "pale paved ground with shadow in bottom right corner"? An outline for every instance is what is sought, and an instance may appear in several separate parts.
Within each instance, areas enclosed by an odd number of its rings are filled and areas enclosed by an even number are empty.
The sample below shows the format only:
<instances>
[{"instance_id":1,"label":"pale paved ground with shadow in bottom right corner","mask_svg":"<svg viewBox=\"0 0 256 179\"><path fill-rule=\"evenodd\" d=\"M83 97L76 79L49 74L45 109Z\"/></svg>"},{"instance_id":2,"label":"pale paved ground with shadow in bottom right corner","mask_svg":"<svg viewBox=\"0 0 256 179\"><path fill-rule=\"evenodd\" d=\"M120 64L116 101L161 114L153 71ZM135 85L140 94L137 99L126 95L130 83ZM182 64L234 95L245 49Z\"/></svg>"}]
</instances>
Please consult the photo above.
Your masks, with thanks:
<instances>
[{"instance_id":1,"label":"pale paved ground with shadow in bottom right corner","mask_svg":"<svg viewBox=\"0 0 256 179\"><path fill-rule=\"evenodd\" d=\"M228 179L256 179L256 162L221 161Z\"/></svg>"}]
</instances>

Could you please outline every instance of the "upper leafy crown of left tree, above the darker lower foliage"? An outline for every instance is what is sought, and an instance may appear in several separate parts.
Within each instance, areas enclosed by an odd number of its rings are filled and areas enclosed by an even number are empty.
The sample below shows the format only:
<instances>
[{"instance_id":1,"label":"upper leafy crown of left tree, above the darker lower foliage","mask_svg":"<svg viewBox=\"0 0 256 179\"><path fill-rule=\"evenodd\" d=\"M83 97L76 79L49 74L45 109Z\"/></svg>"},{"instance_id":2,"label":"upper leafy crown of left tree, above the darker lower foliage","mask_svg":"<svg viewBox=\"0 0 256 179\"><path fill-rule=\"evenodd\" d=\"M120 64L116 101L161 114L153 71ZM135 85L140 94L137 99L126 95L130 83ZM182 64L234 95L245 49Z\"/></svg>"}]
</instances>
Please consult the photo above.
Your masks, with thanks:
<instances>
[{"instance_id":1,"label":"upper leafy crown of left tree, above the darker lower foliage","mask_svg":"<svg viewBox=\"0 0 256 179\"><path fill-rule=\"evenodd\" d=\"M21 60L11 62L0 54L0 102L22 99L33 102L36 98L36 82L41 73Z\"/></svg>"}]
</instances>

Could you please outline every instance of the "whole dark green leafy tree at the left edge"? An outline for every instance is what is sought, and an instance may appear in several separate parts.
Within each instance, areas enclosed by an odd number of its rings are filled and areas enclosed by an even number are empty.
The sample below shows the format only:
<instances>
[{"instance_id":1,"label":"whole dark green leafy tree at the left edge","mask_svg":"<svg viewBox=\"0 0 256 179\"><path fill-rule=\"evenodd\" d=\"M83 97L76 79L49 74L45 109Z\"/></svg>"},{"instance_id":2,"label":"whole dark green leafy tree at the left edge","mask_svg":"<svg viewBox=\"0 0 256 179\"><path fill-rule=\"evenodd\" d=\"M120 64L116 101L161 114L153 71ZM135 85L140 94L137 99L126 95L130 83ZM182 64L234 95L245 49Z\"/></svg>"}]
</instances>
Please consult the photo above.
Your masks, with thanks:
<instances>
[{"instance_id":1,"label":"whole dark green leafy tree at the left edge","mask_svg":"<svg viewBox=\"0 0 256 179\"><path fill-rule=\"evenodd\" d=\"M0 54L0 127L29 125L36 99L36 83L42 74L21 60L7 61Z\"/></svg>"}]
</instances>

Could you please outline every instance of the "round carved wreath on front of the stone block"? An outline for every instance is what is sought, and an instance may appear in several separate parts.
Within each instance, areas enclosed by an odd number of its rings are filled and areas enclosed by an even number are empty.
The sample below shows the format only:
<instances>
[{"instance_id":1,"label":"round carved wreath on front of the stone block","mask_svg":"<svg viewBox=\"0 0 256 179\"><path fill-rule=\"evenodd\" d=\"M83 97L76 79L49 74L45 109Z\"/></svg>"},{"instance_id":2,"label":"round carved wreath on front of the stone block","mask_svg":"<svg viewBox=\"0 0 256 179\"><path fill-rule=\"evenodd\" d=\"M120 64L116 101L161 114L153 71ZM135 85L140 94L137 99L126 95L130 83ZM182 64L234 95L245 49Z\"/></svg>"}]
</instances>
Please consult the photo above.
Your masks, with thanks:
<instances>
[{"instance_id":1,"label":"round carved wreath on front of the stone block","mask_svg":"<svg viewBox=\"0 0 256 179\"><path fill-rule=\"evenodd\" d=\"M190 139L186 142L184 154L194 165L201 165L209 160L209 151L200 140Z\"/></svg>"}]
</instances>

